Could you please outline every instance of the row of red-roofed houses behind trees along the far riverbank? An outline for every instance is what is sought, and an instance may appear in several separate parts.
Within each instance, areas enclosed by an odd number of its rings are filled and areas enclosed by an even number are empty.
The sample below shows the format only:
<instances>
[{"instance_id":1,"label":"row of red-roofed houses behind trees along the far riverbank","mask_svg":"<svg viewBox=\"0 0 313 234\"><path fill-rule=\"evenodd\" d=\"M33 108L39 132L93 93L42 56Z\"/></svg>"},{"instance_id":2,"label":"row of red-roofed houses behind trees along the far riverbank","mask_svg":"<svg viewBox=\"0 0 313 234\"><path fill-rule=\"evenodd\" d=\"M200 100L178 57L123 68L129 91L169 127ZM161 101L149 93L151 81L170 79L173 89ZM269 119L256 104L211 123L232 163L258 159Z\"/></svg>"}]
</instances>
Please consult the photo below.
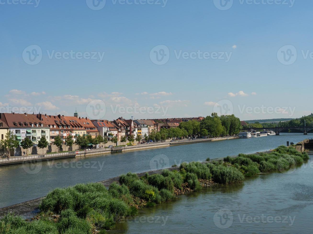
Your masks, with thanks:
<instances>
[{"instance_id":1,"label":"row of red-roofed houses behind trees along the far riverbank","mask_svg":"<svg viewBox=\"0 0 313 234\"><path fill-rule=\"evenodd\" d=\"M199 117L202 118L202 117ZM198 118L189 118L189 120ZM162 123L163 120L163 123ZM60 136L65 142L68 136L75 141L78 136L90 135L96 138L101 135L108 140L117 137L121 140L124 136L137 135L149 136L152 131L160 131L161 128L177 128L179 123L187 121L184 119L123 119L120 117L113 121L106 119L88 119L78 117L75 112L73 116L47 115L47 114L17 114L0 113L0 136L5 139L8 131L17 136L19 141L26 137L38 144L41 137L45 137L49 144L53 144L56 136Z\"/></svg>"}]
</instances>

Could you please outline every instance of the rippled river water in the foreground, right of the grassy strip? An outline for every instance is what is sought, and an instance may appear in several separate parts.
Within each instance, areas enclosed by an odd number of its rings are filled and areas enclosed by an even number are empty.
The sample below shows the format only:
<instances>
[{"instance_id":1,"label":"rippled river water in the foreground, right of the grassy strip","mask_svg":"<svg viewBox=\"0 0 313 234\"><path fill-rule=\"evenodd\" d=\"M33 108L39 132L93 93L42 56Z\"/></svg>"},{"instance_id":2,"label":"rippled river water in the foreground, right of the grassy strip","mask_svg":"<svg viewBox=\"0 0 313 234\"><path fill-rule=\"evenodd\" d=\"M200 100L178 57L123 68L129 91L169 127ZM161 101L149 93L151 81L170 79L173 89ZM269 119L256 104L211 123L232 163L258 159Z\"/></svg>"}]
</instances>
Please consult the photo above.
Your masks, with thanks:
<instances>
[{"instance_id":1,"label":"rippled river water in the foreground, right of the grassy strip","mask_svg":"<svg viewBox=\"0 0 313 234\"><path fill-rule=\"evenodd\" d=\"M285 173L218 185L143 208L110 233L312 233L313 158Z\"/></svg>"}]
</instances>

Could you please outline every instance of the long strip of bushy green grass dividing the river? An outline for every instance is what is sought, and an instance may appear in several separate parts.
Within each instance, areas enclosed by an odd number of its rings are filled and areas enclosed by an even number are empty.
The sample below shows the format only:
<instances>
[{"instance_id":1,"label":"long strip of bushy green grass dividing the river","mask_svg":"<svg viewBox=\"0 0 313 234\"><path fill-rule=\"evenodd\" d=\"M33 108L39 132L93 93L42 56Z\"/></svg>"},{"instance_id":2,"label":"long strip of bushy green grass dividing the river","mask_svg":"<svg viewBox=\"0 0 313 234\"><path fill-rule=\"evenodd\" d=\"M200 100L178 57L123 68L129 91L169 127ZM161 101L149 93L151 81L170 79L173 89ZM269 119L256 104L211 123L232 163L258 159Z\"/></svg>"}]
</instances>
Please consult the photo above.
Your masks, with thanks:
<instances>
[{"instance_id":1,"label":"long strip of bushy green grass dividing the river","mask_svg":"<svg viewBox=\"0 0 313 234\"><path fill-rule=\"evenodd\" d=\"M212 163L182 163L179 171L163 170L139 178L127 173L120 184L109 189L101 183L77 184L56 188L41 204L38 220L27 222L8 214L0 220L0 233L95 233L95 229L112 229L126 216L137 214L139 207L152 207L175 199L175 192L197 191L201 180L216 183L241 183L245 177L260 172L286 170L309 157L294 148L280 146L269 154L240 154Z\"/></svg>"}]
</instances>

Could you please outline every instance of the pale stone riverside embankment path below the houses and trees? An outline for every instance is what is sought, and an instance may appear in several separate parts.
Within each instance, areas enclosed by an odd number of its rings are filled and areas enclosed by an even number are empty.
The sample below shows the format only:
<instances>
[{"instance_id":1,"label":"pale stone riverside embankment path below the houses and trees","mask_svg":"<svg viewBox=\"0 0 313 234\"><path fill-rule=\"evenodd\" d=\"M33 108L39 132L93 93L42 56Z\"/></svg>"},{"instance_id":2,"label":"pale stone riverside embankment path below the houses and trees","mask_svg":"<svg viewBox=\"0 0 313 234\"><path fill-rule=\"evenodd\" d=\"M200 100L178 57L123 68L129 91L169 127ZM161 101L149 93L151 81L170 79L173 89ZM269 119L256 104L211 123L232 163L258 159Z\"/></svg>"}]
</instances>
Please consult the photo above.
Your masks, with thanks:
<instances>
[{"instance_id":1,"label":"pale stone riverside embankment path below the houses and trees","mask_svg":"<svg viewBox=\"0 0 313 234\"><path fill-rule=\"evenodd\" d=\"M235 139L235 138L237 138L237 136L205 138L205 139L195 139L195 140L192 140L192 139L172 140L172 141L167 140L165 142L152 142L149 144L137 144L133 146L122 146L122 147L116 146L113 148L91 149L91 150L86 150L86 151L77 150L77 151L64 152L64 153L35 154L35 155L29 155L29 156L1 158L0 166L27 163L27 162L47 161L47 160L62 159L62 158L85 157L85 156L97 155L97 154L109 154L109 153L113 154L113 153L127 152L127 151L133 151L133 150L154 149L154 148L160 148L160 147L176 146L176 145L183 145L183 144L195 144L195 143L228 140L228 139Z\"/></svg>"}]
</instances>

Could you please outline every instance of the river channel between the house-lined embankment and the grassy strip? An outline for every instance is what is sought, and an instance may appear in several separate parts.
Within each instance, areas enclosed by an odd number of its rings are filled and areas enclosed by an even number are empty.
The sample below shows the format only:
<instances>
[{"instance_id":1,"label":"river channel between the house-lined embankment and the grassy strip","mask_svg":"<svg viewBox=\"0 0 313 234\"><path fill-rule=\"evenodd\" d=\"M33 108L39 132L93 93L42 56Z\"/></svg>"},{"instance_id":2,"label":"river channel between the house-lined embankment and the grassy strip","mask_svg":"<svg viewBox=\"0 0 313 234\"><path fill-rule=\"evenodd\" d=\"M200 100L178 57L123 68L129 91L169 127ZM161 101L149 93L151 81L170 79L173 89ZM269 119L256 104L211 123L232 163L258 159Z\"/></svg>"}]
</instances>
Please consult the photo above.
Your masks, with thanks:
<instances>
[{"instance_id":1,"label":"river channel between the house-lined embankment and the grassy strip","mask_svg":"<svg viewBox=\"0 0 313 234\"><path fill-rule=\"evenodd\" d=\"M310 135L287 133L280 136L230 139L3 166L0 167L0 207L45 196L57 187L97 182L127 172L140 173L167 168L183 161L205 161L208 157L221 158L239 153L266 151L282 144L286 145L287 141L297 143L308 137ZM266 180L263 181L266 183ZM200 193L198 196L205 194Z\"/></svg>"}]
</instances>

